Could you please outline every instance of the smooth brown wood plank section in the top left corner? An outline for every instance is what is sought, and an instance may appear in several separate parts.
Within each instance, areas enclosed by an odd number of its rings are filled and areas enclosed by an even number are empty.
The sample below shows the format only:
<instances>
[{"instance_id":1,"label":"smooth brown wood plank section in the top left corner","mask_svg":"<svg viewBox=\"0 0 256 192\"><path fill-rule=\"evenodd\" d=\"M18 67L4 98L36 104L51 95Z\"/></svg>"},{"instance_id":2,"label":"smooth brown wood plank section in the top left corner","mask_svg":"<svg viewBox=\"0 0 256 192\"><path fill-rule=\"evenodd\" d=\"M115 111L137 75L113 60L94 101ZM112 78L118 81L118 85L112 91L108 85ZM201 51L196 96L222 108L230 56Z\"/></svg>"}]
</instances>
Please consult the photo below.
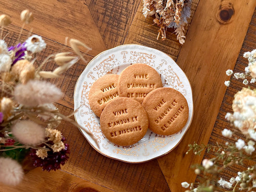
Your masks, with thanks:
<instances>
[{"instance_id":1,"label":"smooth brown wood plank section in the top left corner","mask_svg":"<svg viewBox=\"0 0 256 192\"><path fill-rule=\"evenodd\" d=\"M76 38L87 44L92 56L106 49L87 5L83 0L8 0L0 1L1 11L12 17L12 24L22 26L20 13L29 9L34 14L34 22L25 25L26 30L64 44L65 38ZM84 49L85 51L85 49Z\"/></svg>"}]
</instances>

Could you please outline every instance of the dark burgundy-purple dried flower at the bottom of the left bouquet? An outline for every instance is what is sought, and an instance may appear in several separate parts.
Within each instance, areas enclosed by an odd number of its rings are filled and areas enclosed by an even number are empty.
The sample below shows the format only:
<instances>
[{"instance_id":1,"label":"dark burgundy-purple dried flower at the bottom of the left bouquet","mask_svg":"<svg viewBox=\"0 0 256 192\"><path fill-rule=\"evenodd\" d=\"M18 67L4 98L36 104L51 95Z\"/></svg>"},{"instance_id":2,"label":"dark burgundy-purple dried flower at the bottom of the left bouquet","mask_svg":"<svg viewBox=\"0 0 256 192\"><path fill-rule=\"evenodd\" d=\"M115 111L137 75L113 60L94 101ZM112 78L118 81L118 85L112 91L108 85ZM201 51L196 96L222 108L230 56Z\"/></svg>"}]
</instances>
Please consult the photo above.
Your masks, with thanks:
<instances>
[{"instance_id":1,"label":"dark burgundy-purple dried flower at the bottom of the left bouquet","mask_svg":"<svg viewBox=\"0 0 256 192\"><path fill-rule=\"evenodd\" d=\"M63 137L61 139L62 142L64 142L66 139ZM52 141L47 142L48 144L53 144ZM60 169L61 165L64 165L65 162L68 160L69 156L68 154L70 154L70 151L68 149L69 144L65 144L65 148L62 149L60 152L53 152L48 151L48 156L45 157L44 159L40 158L37 156L37 150L36 149L31 149L30 150L30 156L32 158L32 160L34 161L33 165L35 167L42 167L43 170L56 170L56 169Z\"/></svg>"}]
</instances>

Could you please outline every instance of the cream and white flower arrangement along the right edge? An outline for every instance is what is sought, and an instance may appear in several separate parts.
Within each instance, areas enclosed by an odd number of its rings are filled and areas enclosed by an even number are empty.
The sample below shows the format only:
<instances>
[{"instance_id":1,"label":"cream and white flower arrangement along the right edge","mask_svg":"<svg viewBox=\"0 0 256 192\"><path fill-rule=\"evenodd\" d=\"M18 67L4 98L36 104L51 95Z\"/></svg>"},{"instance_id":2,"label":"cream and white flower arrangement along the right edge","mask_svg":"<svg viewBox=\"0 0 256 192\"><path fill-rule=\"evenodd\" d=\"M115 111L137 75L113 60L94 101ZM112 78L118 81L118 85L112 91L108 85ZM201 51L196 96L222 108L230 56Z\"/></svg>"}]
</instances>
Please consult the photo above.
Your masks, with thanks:
<instances>
[{"instance_id":1,"label":"cream and white flower arrangement along the right edge","mask_svg":"<svg viewBox=\"0 0 256 192\"><path fill-rule=\"evenodd\" d=\"M244 53L248 59L248 66L244 73L234 73L227 70L226 74L232 78L242 79L243 84L256 82L256 49ZM230 81L225 85L229 86ZM226 113L225 119L234 127L233 130L224 129L221 133L224 137L232 138L233 142L224 144L189 144L189 151L195 155L207 150L215 151L211 159L203 159L201 165L195 165L195 174L202 174L203 180L200 183L183 182L182 186L187 188L185 192L256 192L256 89L243 87L234 95L232 102L233 113ZM235 132L242 132L245 139L234 137ZM187 152L187 153L188 153ZM237 172L235 177L224 180L219 174L230 168L230 166L244 166L244 160L254 161ZM244 166L245 167L245 166ZM239 170L239 169L238 169Z\"/></svg>"}]
</instances>

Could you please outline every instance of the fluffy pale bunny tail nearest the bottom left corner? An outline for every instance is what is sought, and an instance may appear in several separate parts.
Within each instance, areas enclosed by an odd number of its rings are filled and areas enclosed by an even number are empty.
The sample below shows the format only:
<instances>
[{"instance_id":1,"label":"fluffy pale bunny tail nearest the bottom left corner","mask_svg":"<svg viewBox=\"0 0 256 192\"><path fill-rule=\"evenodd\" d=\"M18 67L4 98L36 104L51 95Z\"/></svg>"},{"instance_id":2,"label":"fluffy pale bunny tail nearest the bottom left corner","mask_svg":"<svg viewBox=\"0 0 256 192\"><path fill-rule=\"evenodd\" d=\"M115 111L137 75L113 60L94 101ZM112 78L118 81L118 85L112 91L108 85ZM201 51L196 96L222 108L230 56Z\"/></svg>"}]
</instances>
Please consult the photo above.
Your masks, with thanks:
<instances>
[{"instance_id":1,"label":"fluffy pale bunny tail nearest the bottom left corner","mask_svg":"<svg viewBox=\"0 0 256 192\"><path fill-rule=\"evenodd\" d=\"M21 165L11 158L0 157L0 170L0 182L6 185L19 184L24 176Z\"/></svg>"}]
</instances>

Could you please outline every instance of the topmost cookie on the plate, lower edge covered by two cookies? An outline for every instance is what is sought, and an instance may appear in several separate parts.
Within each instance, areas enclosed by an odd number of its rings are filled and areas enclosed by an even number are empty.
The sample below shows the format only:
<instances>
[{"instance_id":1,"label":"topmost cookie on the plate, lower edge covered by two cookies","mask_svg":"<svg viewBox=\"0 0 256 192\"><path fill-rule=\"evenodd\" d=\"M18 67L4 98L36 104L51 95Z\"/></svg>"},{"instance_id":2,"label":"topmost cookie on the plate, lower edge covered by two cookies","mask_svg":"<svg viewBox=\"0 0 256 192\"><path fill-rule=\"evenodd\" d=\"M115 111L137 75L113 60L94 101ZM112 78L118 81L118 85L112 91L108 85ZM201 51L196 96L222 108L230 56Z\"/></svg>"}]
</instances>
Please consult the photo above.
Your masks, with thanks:
<instances>
[{"instance_id":1,"label":"topmost cookie on the plate, lower edge covered by two cookies","mask_svg":"<svg viewBox=\"0 0 256 192\"><path fill-rule=\"evenodd\" d=\"M119 96L134 98L142 103L150 91L162 86L160 75L154 68L135 63L121 72L117 89Z\"/></svg>"}]
</instances>

